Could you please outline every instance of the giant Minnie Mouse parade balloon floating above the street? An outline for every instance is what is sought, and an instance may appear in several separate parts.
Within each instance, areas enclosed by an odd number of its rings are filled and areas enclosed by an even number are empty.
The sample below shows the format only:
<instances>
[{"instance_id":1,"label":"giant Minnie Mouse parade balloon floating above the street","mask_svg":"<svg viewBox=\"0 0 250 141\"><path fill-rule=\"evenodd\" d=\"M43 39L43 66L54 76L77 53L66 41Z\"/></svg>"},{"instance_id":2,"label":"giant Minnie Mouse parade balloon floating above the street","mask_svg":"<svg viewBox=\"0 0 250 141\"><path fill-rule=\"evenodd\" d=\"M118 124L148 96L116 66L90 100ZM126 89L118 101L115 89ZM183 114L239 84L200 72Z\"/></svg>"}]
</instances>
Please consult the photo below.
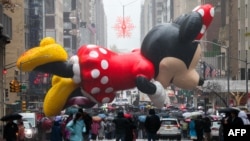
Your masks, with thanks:
<instances>
[{"instance_id":1,"label":"giant Minnie Mouse parade balloon floating above the street","mask_svg":"<svg viewBox=\"0 0 250 141\"><path fill-rule=\"evenodd\" d=\"M199 40L214 16L210 4L196 7L171 23L158 25L145 36L141 48L117 54L98 45L83 45L68 58L51 37L24 52L17 67L25 72L53 74L44 99L44 113L55 116L69 102L84 108L109 103L116 91L137 87L156 107L163 107L170 84L193 89L204 80L195 67L201 57ZM77 99L77 100L76 100Z\"/></svg>"}]
</instances>

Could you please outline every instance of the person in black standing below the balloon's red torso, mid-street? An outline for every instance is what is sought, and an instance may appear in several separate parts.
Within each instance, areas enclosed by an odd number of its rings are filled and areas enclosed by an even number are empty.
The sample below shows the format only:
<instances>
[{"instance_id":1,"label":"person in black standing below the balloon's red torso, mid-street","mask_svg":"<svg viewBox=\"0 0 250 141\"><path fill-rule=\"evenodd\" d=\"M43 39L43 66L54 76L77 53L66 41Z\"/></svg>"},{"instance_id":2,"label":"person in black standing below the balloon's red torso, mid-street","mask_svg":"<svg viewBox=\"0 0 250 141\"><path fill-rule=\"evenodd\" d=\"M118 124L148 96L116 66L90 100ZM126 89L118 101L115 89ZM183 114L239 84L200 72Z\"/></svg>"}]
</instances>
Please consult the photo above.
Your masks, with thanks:
<instances>
[{"instance_id":1,"label":"person in black standing below the balloon's red torso, mid-street","mask_svg":"<svg viewBox=\"0 0 250 141\"><path fill-rule=\"evenodd\" d=\"M124 113L119 111L113 122L115 124L116 141L125 141L126 130L129 128L129 121L124 117Z\"/></svg>"}]
</instances>

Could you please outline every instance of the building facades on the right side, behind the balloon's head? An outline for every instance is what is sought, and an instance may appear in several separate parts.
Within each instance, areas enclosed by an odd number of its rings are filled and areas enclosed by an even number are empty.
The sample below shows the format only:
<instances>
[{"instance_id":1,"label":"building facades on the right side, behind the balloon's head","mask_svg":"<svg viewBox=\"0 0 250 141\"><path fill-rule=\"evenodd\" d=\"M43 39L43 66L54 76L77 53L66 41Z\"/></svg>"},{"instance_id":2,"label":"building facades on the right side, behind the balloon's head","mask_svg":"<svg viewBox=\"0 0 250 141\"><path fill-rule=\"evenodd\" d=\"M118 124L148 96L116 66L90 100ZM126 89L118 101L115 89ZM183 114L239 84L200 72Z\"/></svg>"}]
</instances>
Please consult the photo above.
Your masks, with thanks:
<instances>
[{"instance_id":1,"label":"building facades on the right side, behind the balloon's head","mask_svg":"<svg viewBox=\"0 0 250 141\"><path fill-rule=\"evenodd\" d=\"M201 40L203 53L197 71L206 80L219 79L220 85L228 90L226 95L228 98L230 98L228 92L236 91L233 86L235 83L240 84L238 88L241 88L241 91L248 93L250 58L247 50L250 38L246 35L249 33L249 2L249 0L145 0L141 13L141 41L146 33L157 25L162 15L168 15L166 17L174 20L183 13L191 12L200 4L210 3L215 7L215 17ZM160 9L165 13L162 14ZM162 23L164 22L169 21L162 20ZM223 92L225 93L225 90Z\"/></svg>"}]
</instances>

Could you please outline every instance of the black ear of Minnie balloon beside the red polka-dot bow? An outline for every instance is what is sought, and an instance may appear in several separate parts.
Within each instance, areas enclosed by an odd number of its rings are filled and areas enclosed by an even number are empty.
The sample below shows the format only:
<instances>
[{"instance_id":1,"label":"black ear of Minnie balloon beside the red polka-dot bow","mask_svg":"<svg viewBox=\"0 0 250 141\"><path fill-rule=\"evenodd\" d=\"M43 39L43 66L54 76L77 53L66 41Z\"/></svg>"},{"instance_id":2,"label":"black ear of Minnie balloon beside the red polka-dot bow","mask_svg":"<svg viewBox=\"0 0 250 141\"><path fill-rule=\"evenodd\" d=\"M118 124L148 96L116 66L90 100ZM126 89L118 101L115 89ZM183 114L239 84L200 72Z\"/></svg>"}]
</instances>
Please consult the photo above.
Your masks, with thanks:
<instances>
[{"instance_id":1,"label":"black ear of Minnie balloon beside the red polka-dot bow","mask_svg":"<svg viewBox=\"0 0 250 141\"><path fill-rule=\"evenodd\" d=\"M202 17L197 12L181 15L174 23L180 25L179 40L180 42L191 42L200 33L202 28Z\"/></svg>"}]
</instances>

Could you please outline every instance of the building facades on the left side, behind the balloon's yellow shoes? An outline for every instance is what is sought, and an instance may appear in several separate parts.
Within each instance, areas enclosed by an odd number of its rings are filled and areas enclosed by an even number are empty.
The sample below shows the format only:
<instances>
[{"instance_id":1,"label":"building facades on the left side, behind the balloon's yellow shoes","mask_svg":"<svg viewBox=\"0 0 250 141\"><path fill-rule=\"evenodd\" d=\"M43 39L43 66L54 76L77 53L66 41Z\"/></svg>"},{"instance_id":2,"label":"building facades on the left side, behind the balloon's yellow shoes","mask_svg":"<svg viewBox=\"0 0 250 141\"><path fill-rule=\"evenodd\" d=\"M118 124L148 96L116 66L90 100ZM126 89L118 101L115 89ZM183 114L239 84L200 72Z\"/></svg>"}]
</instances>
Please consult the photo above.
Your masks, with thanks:
<instances>
[{"instance_id":1,"label":"building facades on the left side, behind the balloon's yellow shoes","mask_svg":"<svg viewBox=\"0 0 250 141\"><path fill-rule=\"evenodd\" d=\"M0 2L0 24L0 31L3 31L0 36L0 69L7 70L7 74L0 75L0 116L6 114L4 111L22 110L22 101L27 103L28 109L34 108L32 103L43 101L52 75L24 73L15 67L17 58L25 50L38 46L42 38L55 38L69 56L75 54L81 44L107 44L102 1L25 0L12 3L3 0ZM24 86L22 92L9 91L13 79ZM8 97L5 89L8 89Z\"/></svg>"}]
</instances>

